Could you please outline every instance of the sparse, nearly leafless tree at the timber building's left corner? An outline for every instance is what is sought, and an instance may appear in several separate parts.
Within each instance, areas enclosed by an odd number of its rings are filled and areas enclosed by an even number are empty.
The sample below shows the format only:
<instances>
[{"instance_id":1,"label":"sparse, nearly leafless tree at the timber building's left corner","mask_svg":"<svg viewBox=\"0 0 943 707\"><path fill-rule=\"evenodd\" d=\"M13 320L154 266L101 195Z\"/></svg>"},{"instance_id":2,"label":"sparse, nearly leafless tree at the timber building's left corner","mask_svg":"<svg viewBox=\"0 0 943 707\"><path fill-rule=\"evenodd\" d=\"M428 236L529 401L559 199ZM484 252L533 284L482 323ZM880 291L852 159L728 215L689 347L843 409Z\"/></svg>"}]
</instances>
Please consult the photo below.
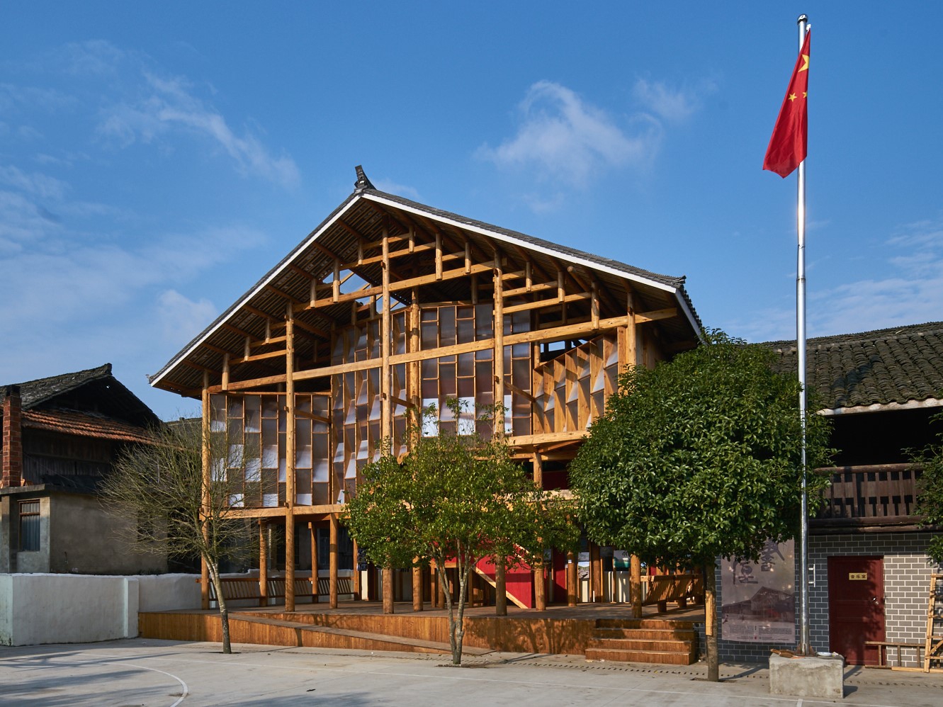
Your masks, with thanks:
<instances>
[{"instance_id":1,"label":"sparse, nearly leafless tree at the timber building's left corner","mask_svg":"<svg viewBox=\"0 0 943 707\"><path fill-rule=\"evenodd\" d=\"M233 518L229 509L252 476L257 451L230 444L224 432L207 430L211 471L205 485L200 420L164 425L150 436L149 444L130 447L119 457L102 487L102 501L129 521L129 532L120 539L134 550L206 561L220 609L223 652L232 652L220 565L244 559L255 546L252 524Z\"/></svg>"}]
</instances>

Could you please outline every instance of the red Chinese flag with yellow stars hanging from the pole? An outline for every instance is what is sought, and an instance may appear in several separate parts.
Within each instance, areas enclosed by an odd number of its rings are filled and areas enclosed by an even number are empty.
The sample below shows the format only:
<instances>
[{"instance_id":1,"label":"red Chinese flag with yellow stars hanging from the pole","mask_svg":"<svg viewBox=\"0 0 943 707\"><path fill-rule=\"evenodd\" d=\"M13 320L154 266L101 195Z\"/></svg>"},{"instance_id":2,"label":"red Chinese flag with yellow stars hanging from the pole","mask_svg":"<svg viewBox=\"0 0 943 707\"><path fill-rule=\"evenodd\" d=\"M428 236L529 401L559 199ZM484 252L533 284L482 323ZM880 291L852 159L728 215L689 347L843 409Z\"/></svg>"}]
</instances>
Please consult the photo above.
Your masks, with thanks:
<instances>
[{"instance_id":1,"label":"red Chinese flag with yellow stars hanging from the pole","mask_svg":"<svg viewBox=\"0 0 943 707\"><path fill-rule=\"evenodd\" d=\"M779 109L779 118L769 138L763 169L786 177L805 159L808 141L808 111L805 97L809 90L809 36L805 33L802 51L792 71L792 80Z\"/></svg>"}]
</instances>

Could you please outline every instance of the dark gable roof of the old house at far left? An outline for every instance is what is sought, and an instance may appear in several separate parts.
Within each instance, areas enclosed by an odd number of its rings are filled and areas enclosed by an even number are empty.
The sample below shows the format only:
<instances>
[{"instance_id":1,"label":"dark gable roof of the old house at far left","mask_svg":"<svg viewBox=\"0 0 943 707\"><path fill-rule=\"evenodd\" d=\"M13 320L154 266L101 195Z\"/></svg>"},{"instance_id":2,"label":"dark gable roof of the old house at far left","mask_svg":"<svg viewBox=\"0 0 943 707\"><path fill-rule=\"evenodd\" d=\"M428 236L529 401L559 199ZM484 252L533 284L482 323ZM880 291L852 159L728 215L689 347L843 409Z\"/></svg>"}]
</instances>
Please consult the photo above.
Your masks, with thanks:
<instances>
[{"instance_id":1,"label":"dark gable roof of the old house at far left","mask_svg":"<svg viewBox=\"0 0 943 707\"><path fill-rule=\"evenodd\" d=\"M71 397L71 394L77 393L85 394L89 399L97 398L103 409L94 412L103 413L109 418L124 419L141 427L159 422L151 408L112 375L110 363L94 369L76 370L0 386L0 403L3 403L6 397L8 385L19 386L24 412L39 407L61 407L57 404L59 398ZM73 403L74 400L70 400L66 407L73 406Z\"/></svg>"}]
</instances>

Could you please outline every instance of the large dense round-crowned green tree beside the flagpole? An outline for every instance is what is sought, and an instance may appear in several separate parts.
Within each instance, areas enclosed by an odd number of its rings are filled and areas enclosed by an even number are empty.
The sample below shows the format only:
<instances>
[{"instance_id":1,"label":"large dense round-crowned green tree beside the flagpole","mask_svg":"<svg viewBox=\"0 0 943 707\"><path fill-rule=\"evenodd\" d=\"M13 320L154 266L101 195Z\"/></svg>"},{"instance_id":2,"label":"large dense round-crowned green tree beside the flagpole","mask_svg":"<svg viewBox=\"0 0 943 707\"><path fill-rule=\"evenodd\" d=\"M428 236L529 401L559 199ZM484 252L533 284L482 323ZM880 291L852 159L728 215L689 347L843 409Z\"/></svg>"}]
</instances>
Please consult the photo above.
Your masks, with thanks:
<instances>
[{"instance_id":1,"label":"large dense round-crowned green tree beside the flagpole","mask_svg":"<svg viewBox=\"0 0 943 707\"><path fill-rule=\"evenodd\" d=\"M799 530L801 387L774 362L768 349L708 331L670 363L625 371L571 464L589 538L642 562L703 567L708 609L716 558L755 559L767 538ZM828 424L809 415L806 425L814 469L829 455ZM811 507L827 481L807 476ZM708 678L716 681L712 611L705 620Z\"/></svg>"}]
</instances>

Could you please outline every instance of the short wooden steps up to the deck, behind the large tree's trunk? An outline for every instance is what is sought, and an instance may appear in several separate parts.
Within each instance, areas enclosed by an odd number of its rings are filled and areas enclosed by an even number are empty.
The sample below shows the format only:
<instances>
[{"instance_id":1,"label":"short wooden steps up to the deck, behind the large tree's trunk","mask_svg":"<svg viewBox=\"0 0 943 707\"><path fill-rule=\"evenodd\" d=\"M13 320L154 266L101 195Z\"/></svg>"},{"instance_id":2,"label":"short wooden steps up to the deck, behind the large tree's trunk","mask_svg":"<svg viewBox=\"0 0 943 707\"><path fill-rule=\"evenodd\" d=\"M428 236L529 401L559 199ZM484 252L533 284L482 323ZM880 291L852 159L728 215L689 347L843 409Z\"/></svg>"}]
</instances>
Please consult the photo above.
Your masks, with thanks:
<instances>
[{"instance_id":1,"label":"short wooden steps up to the deck, behind the large tree's trunk","mask_svg":"<svg viewBox=\"0 0 943 707\"><path fill-rule=\"evenodd\" d=\"M698 636L691 621L599 619L586 656L594 661L689 666L698 660Z\"/></svg>"}]
</instances>

